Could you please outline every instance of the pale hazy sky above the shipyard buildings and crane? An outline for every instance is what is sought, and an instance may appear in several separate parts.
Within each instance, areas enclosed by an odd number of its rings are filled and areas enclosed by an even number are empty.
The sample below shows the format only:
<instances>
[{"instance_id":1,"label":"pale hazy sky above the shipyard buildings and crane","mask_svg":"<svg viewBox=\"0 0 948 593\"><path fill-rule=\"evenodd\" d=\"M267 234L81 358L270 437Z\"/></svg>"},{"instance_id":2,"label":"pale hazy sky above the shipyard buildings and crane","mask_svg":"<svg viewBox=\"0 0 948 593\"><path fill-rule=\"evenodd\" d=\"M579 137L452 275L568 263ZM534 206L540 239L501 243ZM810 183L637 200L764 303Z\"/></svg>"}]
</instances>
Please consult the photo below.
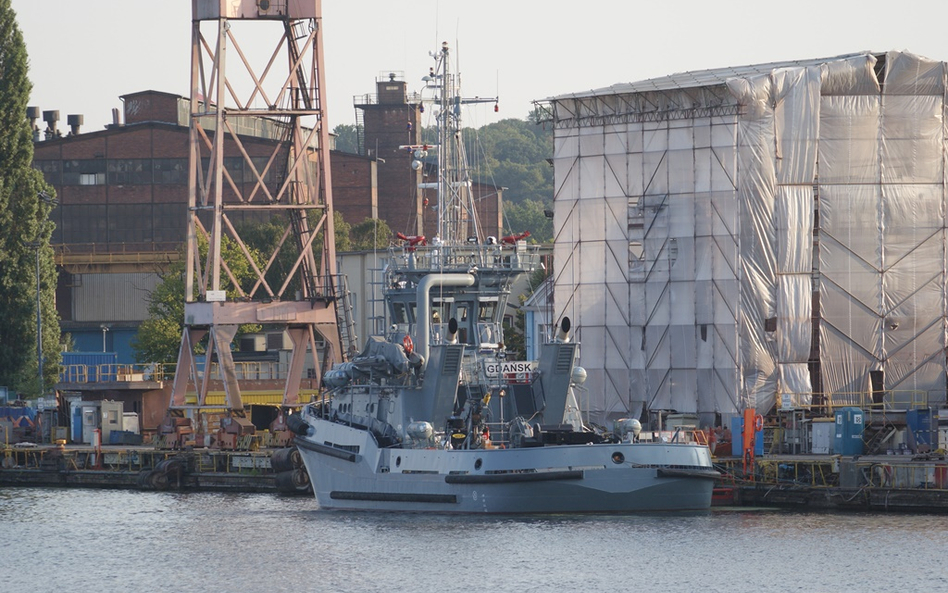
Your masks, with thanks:
<instances>
[{"instance_id":1,"label":"pale hazy sky above the shipyard buildings and crane","mask_svg":"<svg viewBox=\"0 0 948 593\"><path fill-rule=\"evenodd\" d=\"M119 96L188 95L190 0L13 0L30 54L30 105L111 121ZM457 47L465 95L500 96L468 117L523 118L531 102L688 70L908 50L948 61L948 1L323 0L330 127L352 98L403 72L409 90L441 41ZM247 37L244 37L246 40ZM244 47L246 51L252 43ZM254 51L251 47L251 51ZM260 53L269 57L270 47Z\"/></svg>"}]
</instances>

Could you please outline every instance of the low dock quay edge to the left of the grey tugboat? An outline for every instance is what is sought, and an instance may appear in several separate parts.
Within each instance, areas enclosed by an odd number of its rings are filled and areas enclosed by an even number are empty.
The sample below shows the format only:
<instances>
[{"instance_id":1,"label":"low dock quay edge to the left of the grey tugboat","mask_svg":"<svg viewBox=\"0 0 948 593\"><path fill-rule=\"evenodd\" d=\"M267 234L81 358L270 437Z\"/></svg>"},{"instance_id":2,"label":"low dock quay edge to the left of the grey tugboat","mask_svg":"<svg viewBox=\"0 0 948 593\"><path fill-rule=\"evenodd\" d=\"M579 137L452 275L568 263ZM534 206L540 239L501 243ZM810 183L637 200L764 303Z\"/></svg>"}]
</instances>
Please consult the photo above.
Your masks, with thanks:
<instances>
[{"instance_id":1,"label":"low dock quay edge to the left of the grey tugboat","mask_svg":"<svg viewBox=\"0 0 948 593\"><path fill-rule=\"evenodd\" d=\"M225 451L11 445L3 448L0 486L312 492L295 448Z\"/></svg>"}]
</instances>

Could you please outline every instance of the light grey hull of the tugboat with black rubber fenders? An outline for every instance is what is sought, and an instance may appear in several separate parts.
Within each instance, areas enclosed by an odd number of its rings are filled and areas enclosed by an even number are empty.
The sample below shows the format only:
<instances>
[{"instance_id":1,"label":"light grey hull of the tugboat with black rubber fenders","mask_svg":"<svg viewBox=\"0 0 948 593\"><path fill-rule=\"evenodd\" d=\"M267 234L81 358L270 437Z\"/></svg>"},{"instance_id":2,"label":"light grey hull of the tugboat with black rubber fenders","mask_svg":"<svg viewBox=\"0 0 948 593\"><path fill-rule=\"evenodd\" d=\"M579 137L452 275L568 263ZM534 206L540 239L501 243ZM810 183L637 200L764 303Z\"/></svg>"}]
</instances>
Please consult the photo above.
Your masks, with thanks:
<instances>
[{"instance_id":1,"label":"light grey hull of the tugboat with black rubber fenders","mask_svg":"<svg viewBox=\"0 0 948 593\"><path fill-rule=\"evenodd\" d=\"M717 476L694 443L379 449L364 430L310 419L299 436L320 507L441 513L704 510ZM318 436L317 436L318 435Z\"/></svg>"}]
</instances>

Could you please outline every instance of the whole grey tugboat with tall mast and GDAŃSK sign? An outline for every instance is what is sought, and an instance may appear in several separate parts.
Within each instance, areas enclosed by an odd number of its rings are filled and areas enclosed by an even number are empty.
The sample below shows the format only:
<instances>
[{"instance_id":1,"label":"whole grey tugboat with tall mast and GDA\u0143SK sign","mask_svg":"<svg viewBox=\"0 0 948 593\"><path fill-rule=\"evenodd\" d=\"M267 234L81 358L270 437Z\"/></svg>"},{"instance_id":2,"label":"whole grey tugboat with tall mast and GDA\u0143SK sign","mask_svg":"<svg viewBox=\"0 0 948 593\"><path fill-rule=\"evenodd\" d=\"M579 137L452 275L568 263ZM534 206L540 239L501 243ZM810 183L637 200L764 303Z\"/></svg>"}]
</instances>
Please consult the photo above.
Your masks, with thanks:
<instances>
[{"instance_id":1,"label":"whole grey tugboat with tall mast and GDA\u0143SK sign","mask_svg":"<svg viewBox=\"0 0 948 593\"><path fill-rule=\"evenodd\" d=\"M442 513L702 510L708 447L640 442L640 423L585 425L570 320L533 362L510 361L511 284L539 264L526 233L467 239L476 216L447 44L425 77L438 143L438 235L399 234L384 271L390 328L324 376L326 397L288 424L320 507ZM483 101L483 99L475 99Z\"/></svg>"}]
</instances>

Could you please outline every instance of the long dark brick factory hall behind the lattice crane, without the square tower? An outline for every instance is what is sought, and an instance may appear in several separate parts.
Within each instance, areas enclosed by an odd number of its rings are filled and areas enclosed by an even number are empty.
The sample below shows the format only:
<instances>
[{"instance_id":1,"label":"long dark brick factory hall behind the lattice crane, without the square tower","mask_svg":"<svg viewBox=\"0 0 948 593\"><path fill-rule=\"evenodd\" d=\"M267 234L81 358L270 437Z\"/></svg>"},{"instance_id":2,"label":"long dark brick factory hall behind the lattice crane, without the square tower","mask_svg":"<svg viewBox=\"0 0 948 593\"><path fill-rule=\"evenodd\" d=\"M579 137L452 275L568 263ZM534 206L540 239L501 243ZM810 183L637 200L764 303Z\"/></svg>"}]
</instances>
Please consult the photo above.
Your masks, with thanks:
<instances>
[{"instance_id":1,"label":"long dark brick factory hall behind the lattice crane, without the square tower","mask_svg":"<svg viewBox=\"0 0 948 593\"><path fill-rule=\"evenodd\" d=\"M185 239L189 105L184 97L157 91L121 99L124 122L116 114L115 123L96 132L72 126L62 135L58 114L45 112L47 132L34 125L33 164L59 201L50 218L56 224L52 244L60 266L56 297L63 332L72 335L77 350L117 352L126 363L132 362L129 342L147 317L146 297L162 266L179 257ZM281 133L277 122L264 119L240 130L241 143L260 170ZM249 193L255 180L230 139L224 159L233 183ZM283 161L285 156L274 158ZM331 162L338 180L334 201L374 199L371 159L334 153ZM264 178L271 190L278 175L271 166ZM229 184L224 199L235 199ZM234 212L231 219L240 224L250 216Z\"/></svg>"}]
</instances>

